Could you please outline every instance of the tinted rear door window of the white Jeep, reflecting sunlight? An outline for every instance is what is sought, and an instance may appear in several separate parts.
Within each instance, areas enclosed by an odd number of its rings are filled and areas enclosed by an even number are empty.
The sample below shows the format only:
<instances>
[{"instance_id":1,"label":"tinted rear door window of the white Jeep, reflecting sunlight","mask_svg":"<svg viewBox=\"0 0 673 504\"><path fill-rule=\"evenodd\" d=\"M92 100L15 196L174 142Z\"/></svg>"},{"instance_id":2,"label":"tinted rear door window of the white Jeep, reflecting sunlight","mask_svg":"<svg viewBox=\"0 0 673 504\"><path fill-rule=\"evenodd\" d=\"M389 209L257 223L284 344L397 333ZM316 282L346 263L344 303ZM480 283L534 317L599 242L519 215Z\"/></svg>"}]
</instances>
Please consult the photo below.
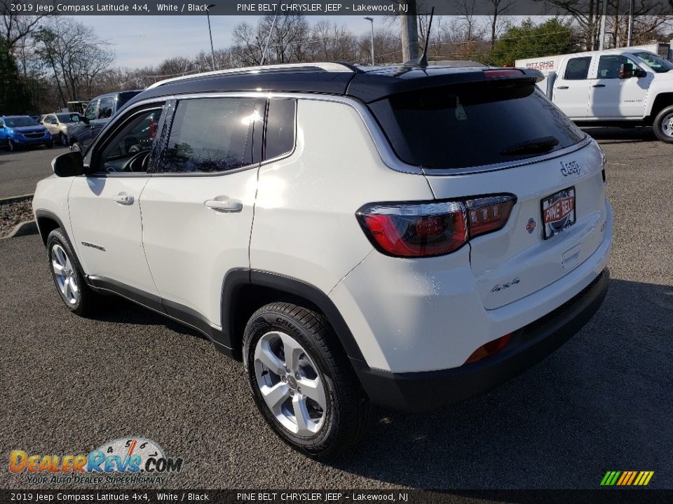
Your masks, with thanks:
<instances>
[{"instance_id":1,"label":"tinted rear door window of the white Jeep, reflecting sunlight","mask_svg":"<svg viewBox=\"0 0 673 504\"><path fill-rule=\"evenodd\" d=\"M175 110L162 172L226 172L252 165L252 133L262 125L264 100L194 98Z\"/></svg>"}]
</instances>

